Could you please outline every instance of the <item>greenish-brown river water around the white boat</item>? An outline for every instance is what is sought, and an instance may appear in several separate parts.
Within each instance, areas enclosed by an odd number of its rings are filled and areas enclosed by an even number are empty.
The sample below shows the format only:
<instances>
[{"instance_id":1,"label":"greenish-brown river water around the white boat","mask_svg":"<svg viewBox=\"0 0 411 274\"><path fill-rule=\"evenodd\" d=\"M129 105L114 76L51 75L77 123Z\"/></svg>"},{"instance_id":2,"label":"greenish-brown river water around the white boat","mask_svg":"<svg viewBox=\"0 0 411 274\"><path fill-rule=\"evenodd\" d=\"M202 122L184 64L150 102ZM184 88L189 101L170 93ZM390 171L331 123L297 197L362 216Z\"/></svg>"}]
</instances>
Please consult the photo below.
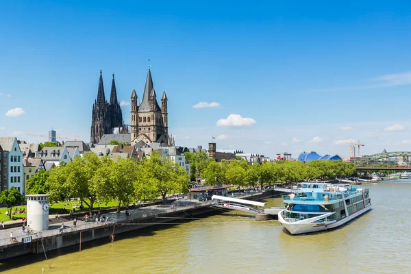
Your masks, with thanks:
<instances>
[{"instance_id":1,"label":"greenish-brown river water around the white boat","mask_svg":"<svg viewBox=\"0 0 411 274\"><path fill-rule=\"evenodd\" d=\"M0 264L1 273L411 273L411 181L363 184L373 210L331 232L291 236L227 212ZM281 206L281 199L267 199Z\"/></svg>"}]
</instances>

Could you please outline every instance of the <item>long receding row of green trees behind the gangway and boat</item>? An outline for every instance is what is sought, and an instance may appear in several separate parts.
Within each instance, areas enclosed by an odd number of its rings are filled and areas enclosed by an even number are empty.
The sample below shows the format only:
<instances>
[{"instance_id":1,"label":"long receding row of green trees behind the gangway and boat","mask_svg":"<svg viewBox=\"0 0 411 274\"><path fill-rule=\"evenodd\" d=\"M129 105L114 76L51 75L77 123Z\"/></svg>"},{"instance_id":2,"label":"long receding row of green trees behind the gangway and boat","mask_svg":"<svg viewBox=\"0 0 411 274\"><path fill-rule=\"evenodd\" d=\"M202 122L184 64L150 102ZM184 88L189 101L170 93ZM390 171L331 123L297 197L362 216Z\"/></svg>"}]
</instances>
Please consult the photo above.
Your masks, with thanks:
<instances>
[{"instance_id":1,"label":"long receding row of green trees behind the gangway and boat","mask_svg":"<svg viewBox=\"0 0 411 274\"><path fill-rule=\"evenodd\" d=\"M353 164L342 161L315 160L312 162L277 161L252 164L245 160L216 162L206 153L184 153L191 165L192 181L205 179L206 184L256 186L301 182L308 179L332 179L356 173Z\"/></svg>"}]
</instances>

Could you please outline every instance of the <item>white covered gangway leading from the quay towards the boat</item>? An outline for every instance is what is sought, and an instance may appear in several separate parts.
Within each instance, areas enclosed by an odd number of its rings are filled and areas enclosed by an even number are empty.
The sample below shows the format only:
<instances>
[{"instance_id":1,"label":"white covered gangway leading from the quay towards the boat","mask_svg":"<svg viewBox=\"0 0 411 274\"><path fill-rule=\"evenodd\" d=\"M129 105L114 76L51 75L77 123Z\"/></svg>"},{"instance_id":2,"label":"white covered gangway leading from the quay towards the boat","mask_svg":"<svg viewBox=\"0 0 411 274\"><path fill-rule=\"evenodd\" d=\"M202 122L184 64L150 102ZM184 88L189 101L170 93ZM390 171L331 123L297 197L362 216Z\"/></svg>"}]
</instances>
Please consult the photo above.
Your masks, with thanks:
<instances>
[{"instance_id":1,"label":"white covered gangway leading from the quay towards the boat","mask_svg":"<svg viewBox=\"0 0 411 274\"><path fill-rule=\"evenodd\" d=\"M224 208L226 210L240 210L240 211L248 211L253 213L264 213L264 209L262 208L265 203L260 201L249 201L245 199L237 199L232 197L224 197L219 195L212 195L211 197L212 203L211 206L216 208Z\"/></svg>"}]
</instances>

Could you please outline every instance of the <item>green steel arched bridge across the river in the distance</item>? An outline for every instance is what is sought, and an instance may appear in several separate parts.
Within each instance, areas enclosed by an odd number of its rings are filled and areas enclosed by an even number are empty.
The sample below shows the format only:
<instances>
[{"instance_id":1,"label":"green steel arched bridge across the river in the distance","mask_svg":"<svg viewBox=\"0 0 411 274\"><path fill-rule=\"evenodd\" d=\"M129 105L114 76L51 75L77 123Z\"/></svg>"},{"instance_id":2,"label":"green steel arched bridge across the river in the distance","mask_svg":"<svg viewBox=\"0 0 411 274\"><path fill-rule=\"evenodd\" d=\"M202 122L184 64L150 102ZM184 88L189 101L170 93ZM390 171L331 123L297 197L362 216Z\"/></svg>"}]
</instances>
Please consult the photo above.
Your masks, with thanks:
<instances>
[{"instance_id":1,"label":"green steel arched bridge across the river in the distance","mask_svg":"<svg viewBox=\"0 0 411 274\"><path fill-rule=\"evenodd\" d=\"M352 163L357 169L367 170L411 170L411 165L408 162L399 162L399 157L411 157L410 151L393 151L385 153L377 153L366 155L362 158L353 160ZM395 158L395 160L393 160Z\"/></svg>"}]
</instances>

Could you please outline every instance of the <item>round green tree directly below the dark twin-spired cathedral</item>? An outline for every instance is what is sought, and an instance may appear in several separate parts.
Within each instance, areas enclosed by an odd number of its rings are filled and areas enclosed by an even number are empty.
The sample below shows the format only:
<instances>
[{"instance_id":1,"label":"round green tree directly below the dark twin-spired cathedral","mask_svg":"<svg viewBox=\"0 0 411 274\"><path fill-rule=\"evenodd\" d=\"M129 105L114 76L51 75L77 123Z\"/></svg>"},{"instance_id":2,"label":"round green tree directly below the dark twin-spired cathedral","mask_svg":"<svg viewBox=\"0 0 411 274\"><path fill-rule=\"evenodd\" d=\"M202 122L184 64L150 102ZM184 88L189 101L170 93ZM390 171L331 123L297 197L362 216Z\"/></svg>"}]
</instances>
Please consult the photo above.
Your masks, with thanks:
<instances>
[{"instance_id":1,"label":"round green tree directly below the dark twin-spired cathedral","mask_svg":"<svg viewBox=\"0 0 411 274\"><path fill-rule=\"evenodd\" d=\"M128 206L134 200L136 179L136 162L121 158L106 160L92 178L99 200L109 202L115 199L119 202L117 213L120 213L121 205Z\"/></svg>"}]
</instances>

